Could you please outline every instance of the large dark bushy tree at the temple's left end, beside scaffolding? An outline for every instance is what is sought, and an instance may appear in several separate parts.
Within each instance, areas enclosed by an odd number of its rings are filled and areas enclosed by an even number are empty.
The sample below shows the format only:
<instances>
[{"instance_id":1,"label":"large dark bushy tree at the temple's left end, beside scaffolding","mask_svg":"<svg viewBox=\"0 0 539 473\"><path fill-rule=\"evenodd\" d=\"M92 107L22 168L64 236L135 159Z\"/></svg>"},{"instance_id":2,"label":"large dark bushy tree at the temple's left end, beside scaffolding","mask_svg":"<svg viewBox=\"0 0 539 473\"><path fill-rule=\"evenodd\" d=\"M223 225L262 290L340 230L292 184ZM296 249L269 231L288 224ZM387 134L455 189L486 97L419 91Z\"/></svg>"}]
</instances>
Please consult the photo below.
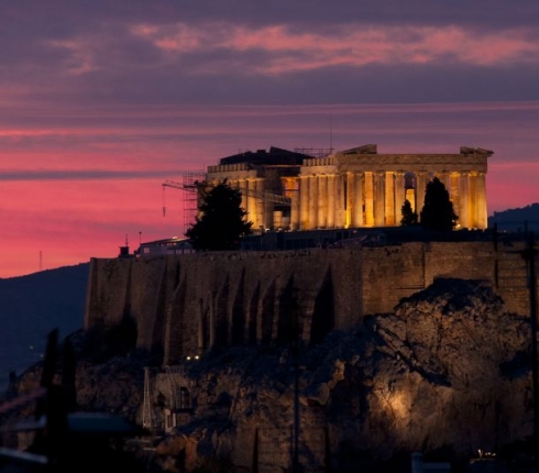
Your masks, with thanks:
<instances>
[{"instance_id":1,"label":"large dark bushy tree at the temple's left end, beside scaffolding","mask_svg":"<svg viewBox=\"0 0 539 473\"><path fill-rule=\"evenodd\" d=\"M211 188L199 205L200 217L186 231L195 250L237 250L241 238L251 234L253 222L241 208L241 191L230 187L227 179Z\"/></svg>"}]
</instances>

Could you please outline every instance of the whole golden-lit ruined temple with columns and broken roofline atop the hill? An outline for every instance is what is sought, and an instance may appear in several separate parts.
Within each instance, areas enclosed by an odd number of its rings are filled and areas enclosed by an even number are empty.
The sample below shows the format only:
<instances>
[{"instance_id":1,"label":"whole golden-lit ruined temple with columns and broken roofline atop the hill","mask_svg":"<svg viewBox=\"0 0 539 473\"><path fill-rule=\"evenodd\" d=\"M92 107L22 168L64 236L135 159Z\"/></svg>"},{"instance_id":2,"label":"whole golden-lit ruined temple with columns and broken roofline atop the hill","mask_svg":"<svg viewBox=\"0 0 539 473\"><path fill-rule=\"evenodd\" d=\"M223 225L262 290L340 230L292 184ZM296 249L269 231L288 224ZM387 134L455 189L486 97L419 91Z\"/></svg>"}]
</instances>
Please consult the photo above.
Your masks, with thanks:
<instances>
[{"instance_id":1,"label":"whole golden-lit ruined temple with columns and broken roofline atop the hill","mask_svg":"<svg viewBox=\"0 0 539 473\"><path fill-rule=\"evenodd\" d=\"M378 154L372 144L314 157L272 147L221 158L208 166L206 183L239 188L253 229L314 230L399 226L405 199L419 215L436 176L459 227L485 229L492 154L465 146L455 154Z\"/></svg>"}]
</instances>

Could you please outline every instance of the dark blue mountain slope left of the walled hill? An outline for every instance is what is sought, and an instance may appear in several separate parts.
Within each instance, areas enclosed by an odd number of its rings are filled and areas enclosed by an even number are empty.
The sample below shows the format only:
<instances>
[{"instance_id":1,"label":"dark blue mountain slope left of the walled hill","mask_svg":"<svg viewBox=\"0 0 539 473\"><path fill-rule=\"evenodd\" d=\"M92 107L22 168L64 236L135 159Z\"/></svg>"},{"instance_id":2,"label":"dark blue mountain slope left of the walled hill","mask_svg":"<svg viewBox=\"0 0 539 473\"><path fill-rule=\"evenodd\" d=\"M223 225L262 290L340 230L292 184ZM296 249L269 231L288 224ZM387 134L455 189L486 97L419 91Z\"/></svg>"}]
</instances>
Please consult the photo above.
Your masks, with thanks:
<instances>
[{"instance_id":1,"label":"dark blue mountain slope left of the walled hill","mask_svg":"<svg viewBox=\"0 0 539 473\"><path fill-rule=\"evenodd\" d=\"M0 392L9 373L41 360L47 334L82 328L89 263L0 278Z\"/></svg>"}]
</instances>

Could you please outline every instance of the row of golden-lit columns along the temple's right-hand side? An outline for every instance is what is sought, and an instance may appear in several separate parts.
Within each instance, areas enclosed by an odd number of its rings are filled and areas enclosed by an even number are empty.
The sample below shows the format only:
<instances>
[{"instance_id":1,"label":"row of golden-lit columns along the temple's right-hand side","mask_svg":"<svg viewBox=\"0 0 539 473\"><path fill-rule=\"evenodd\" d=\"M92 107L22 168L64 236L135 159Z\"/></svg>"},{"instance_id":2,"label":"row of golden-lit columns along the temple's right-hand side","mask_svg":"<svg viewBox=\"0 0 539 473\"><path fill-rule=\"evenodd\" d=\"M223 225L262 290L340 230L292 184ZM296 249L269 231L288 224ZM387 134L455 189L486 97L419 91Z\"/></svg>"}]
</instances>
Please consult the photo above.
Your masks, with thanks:
<instances>
[{"instance_id":1,"label":"row of golden-lit columns along the temple's right-hand side","mask_svg":"<svg viewBox=\"0 0 539 473\"><path fill-rule=\"evenodd\" d=\"M444 184L462 228L487 227L485 173L436 174ZM292 230L395 227L406 199L419 215L432 176L414 175L405 188L405 172L346 172L302 175L293 198ZM294 211L296 209L296 211Z\"/></svg>"}]
</instances>

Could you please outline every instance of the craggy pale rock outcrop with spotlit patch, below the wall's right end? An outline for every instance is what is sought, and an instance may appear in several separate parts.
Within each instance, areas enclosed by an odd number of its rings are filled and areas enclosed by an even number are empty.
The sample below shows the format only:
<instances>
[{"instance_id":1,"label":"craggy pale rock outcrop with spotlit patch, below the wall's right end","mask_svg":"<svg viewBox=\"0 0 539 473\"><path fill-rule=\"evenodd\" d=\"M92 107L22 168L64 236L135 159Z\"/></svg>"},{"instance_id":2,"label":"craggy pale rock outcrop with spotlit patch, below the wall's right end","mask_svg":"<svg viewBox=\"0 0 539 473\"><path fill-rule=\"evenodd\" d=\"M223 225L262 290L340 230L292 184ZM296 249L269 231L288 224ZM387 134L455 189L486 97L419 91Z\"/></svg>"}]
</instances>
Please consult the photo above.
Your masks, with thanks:
<instances>
[{"instance_id":1,"label":"craggy pale rock outcrop with spotlit patch, below the wall's right end","mask_svg":"<svg viewBox=\"0 0 539 473\"><path fill-rule=\"evenodd\" d=\"M483 283L437 280L360 331L371 451L470 455L531 433L529 321L505 314Z\"/></svg>"}]
</instances>

